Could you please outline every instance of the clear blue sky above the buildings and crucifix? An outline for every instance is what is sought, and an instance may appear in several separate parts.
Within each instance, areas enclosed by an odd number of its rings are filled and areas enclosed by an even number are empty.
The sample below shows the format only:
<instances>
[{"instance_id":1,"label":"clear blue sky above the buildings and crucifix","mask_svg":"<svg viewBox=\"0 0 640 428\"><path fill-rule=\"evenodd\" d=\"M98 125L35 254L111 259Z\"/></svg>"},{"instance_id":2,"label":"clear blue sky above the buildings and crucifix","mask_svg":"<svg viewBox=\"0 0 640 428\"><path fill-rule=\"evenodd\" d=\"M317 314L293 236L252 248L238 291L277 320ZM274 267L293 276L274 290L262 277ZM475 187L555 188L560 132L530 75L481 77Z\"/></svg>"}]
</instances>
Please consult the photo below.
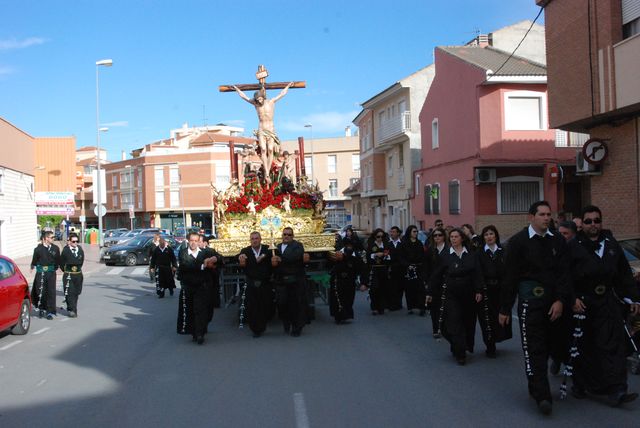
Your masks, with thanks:
<instances>
[{"instance_id":1,"label":"clear blue sky above the buildings and crucifix","mask_svg":"<svg viewBox=\"0 0 640 428\"><path fill-rule=\"evenodd\" d=\"M13 1L0 0L0 117L33 136L94 145L95 62L102 145L119 159L169 130L257 127L255 111L220 84L305 80L276 106L283 139L341 135L359 105L461 44L532 20L534 0ZM271 92L274 96L277 92ZM203 115L204 106L204 115Z\"/></svg>"}]
</instances>

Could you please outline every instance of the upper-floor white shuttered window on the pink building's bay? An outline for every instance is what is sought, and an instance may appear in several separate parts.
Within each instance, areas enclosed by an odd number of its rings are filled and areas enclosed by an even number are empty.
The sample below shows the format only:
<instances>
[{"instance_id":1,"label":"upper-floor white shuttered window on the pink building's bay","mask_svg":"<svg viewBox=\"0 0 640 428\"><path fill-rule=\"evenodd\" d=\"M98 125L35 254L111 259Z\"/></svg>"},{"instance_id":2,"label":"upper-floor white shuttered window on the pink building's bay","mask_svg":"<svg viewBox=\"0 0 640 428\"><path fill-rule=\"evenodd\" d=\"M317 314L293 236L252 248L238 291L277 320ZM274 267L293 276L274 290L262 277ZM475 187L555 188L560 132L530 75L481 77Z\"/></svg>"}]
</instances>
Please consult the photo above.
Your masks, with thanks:
<instances>
[{"instance_id":1,"label":"upper-floor white shuttered window on the pink building's bay","mask_svg":"<svg viewBox=\"0 0 640 428\"><path fill-rule=\"evenodd\" d=\"M511 91L505 93L505 129L546 129L546 102L546 97L540 92Z\"/></svg>"}]
</instances>

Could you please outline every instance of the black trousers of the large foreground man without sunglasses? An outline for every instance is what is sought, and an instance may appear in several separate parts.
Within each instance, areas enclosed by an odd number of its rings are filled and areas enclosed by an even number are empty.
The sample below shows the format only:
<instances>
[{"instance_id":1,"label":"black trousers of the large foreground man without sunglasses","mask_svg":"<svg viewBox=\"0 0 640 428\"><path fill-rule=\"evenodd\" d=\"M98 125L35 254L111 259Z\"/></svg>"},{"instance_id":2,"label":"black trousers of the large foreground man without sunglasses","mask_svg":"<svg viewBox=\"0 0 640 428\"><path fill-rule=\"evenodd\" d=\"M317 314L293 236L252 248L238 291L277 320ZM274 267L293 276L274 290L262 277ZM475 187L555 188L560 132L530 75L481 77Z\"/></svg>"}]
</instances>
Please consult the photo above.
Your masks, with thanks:
<instances>
[{"instance_id":1,"label":"black trousers of the large foreground man without sunglasses","mask_svg":"<svg viewBox=\"0 0 640 428\"><path fill-rule=\"evenodd\" d=\"M548 360L566 360L568 331L564 319L551 322L549 310L553 302L543 299L518 301L520 336L524 353L529 394L537 401L551 400Z\"/></svg>"}]
</instances>

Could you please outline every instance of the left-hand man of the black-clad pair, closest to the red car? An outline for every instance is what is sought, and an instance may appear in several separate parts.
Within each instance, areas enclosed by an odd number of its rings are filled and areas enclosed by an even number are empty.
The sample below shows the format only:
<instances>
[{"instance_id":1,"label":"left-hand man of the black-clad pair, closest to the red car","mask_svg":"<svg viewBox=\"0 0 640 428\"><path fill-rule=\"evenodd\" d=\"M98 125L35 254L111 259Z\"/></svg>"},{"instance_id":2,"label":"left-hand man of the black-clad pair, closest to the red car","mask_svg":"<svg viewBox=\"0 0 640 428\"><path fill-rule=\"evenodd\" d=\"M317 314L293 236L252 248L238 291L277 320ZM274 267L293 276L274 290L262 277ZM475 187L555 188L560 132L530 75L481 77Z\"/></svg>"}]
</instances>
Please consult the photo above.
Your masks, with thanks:
<instances>
[{"instance_id":1,"label":"left-hand man of the black-clad pair, closest to the red car","mask_svg":"<svg viewBox=\"0 0 640 428\"><path fill-rule=\"evenodd\" d=\"M53 232L44 232L42 242L33 250L31 271L36 276L31 288L31 301L40 318L52 320L56 314L56 271L60 267L60 249L53 244Z\"/></svg>"}]
</instances>

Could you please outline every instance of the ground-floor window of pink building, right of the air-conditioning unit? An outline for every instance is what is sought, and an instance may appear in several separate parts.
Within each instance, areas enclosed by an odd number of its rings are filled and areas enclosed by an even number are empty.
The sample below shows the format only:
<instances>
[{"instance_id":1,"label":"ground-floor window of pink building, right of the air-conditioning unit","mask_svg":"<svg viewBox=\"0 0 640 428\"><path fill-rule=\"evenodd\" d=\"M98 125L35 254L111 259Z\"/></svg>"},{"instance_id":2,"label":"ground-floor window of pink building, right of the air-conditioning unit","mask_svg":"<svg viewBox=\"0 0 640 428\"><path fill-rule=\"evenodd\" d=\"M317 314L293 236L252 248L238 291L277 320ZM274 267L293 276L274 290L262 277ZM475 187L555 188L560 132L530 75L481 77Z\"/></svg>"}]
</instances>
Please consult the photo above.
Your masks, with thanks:
<instances>
[{"instance_id":1,"label":"ground-floor window of pink building, right of the air-conditioning unit","mask_svg":"<svg viewBox=\"0 0 640 428\"><path fill-rule=\"evenodd\" d=\"M532 203L544 199L539 177L499 178L496 185L498 214L526 213Z\"/></svg>"}]
</instances>

